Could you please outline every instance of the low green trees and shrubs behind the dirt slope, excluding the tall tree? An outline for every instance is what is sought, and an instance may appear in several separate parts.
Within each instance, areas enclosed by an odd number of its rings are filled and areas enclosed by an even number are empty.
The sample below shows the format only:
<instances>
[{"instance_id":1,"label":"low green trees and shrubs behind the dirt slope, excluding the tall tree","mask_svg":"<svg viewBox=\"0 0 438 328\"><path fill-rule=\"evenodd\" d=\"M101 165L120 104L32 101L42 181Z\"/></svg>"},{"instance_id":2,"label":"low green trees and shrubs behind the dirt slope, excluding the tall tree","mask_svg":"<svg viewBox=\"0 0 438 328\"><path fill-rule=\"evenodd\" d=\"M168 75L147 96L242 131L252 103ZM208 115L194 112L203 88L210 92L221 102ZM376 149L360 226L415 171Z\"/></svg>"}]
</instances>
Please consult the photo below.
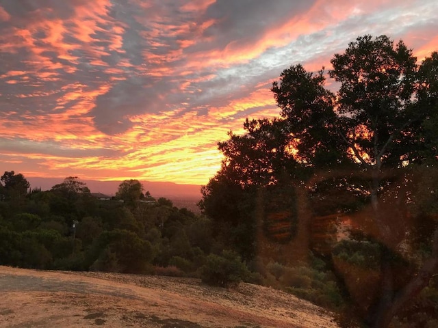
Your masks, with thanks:
<instances>
[{"instance_id":1,"label":"low green trees and shrubs behind the dirt slope, excluding the tall tree","mask_svg":"<svg viewBox=\"0 0 438 328\"><path fill-rule=\"evenodd\" d=\"M287 266L278 257L248 257L214 232L214 222L166 198L122 182L112 199L99 199L68 177L49 191L29 189L22 174L0 183L0 264L31 269L107 271L201 277L216 286L253 282L294 288L301 297L336 308L335 277L313 258ZM242 239L246 245L250 236Z\"/></svg>"}]
</instances>

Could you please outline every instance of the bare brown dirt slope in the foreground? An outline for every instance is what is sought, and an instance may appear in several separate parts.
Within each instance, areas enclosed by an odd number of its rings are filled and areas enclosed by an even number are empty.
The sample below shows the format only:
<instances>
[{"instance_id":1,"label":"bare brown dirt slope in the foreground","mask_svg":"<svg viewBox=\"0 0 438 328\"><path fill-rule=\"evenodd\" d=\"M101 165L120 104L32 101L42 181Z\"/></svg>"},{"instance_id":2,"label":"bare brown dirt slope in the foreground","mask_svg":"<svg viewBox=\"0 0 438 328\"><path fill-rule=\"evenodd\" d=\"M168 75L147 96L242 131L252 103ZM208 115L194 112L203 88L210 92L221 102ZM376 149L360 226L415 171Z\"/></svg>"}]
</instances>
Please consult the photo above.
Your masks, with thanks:
<instances>
[{"instance_id":1,"label":"bare brown dirt slope in the foreground","mask_svg":"<svg viewBox=\"0 0 438 328\"><path fill-rule=\"evenodd\" d=\"M252 284L0 266L0 327L335 328L331 314Z\"/></svg>"}]
</instances>

